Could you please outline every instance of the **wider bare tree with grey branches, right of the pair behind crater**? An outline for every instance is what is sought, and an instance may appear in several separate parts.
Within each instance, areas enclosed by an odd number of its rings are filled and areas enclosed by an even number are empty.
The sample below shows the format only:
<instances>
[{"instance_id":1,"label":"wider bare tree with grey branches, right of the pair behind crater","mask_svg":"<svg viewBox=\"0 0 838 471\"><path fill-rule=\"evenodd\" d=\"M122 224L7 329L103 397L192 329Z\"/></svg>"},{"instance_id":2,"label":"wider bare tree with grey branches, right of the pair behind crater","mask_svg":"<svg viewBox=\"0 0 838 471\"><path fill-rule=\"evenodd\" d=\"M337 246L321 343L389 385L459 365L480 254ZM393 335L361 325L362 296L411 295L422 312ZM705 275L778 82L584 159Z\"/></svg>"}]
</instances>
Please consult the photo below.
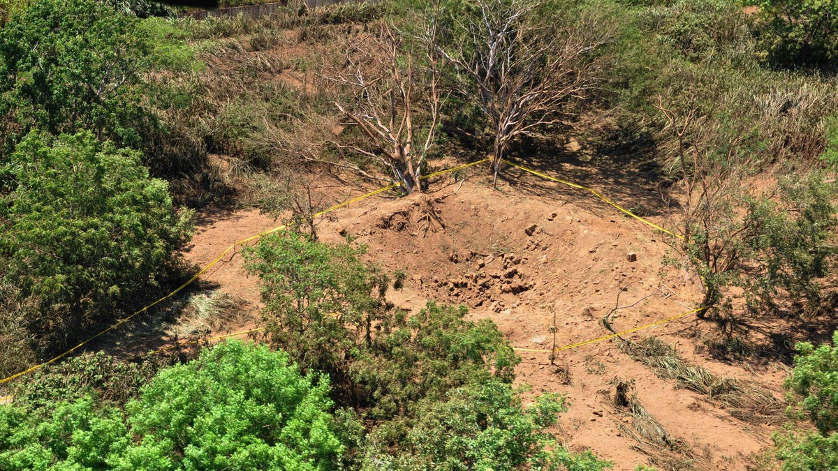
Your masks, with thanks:
<instances>
[{"instance_id":1,"label":"wider bare tree with grey branches, right of the pair behind crater","mask_svg":"<svg viewBox=\"0 0 838 471\"><path fill-rule=\"evenodd\" d=\"M515 137L537 135L551 124L569 124L572 103L602 82L597 52L613 28L583 15L555 22L535 0L477 0L475 11L454 22L437 50L454 66L454 88L474 96L489 118L497 180L504 152Z\"/></svg>"}]
</instances>

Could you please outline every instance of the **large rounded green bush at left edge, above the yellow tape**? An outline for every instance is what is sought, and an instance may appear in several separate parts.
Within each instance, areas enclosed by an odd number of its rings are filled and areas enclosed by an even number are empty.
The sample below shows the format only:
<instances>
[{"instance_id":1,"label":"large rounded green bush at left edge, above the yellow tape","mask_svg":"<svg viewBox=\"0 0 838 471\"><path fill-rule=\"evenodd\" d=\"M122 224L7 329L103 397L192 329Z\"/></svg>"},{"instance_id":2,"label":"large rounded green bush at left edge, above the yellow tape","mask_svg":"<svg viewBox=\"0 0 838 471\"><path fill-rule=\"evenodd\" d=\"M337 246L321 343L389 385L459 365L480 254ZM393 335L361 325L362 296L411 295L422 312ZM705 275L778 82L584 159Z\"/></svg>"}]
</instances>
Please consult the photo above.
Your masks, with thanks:
<instances>
[{"instance_id":1,"label":"large rounded green bush at left edge, above the yellow tape","mask_svg":"<svg viewBox=\"0 0 838 471\"><path fill-rule=\"evenodd\" d=\"M192 213L176 215L168 185L140 161L90 132L33 132L3 167L13 180L0 213L6 281L45 350L136 306L178 268Z\"/></svg>"}]
</instances>

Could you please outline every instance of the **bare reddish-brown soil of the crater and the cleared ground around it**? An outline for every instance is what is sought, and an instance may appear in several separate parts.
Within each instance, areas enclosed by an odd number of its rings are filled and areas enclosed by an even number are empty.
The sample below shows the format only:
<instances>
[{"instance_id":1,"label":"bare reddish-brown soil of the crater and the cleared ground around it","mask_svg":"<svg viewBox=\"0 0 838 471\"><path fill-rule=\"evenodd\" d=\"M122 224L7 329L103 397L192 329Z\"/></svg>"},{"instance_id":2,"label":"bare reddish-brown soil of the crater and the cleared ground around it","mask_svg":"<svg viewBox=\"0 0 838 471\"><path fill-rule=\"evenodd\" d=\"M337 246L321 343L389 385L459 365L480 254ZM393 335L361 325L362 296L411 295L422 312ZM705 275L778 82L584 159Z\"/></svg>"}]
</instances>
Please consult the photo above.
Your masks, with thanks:
<instances>
[{"instance_id":1,"label":"bare reddish-brown soil of the crater and the cleared ground around it","mask_svg":"<svg viewBox=\"0 0 838 471\"><path fill-rule=\"evenodd\" d=\"M597 189L629 206L644 198L642 189L620 193L608 186L608 178L594 180L601 185ZM611 316L619 331L683 313L701 299L693 273L662 262L674 253L663 235L589 194L510 170L499 190L482 175L462 186L445 176L432 183L429 194L365 199L331 216L319 225L321 240L354 235L369 247L370 261L407 273L405 287L388 293L396 305L416 310L429 299L463 303L471 317L493 319L521 349L517 382L535 393L566 393L571 408L557 432L572 448L591 448L612 459L615 469L649 464L653 456L659 457L660 469L684 468L675 461L666 465L665 456L696 469L742 469L751 453L769 445L769 427L737 420L705 396L661 380L613 339L563 350L555 365L549 353L530 351L551 349L554 316L555 344L561 346L609 334L601 319L617 304L640 301ZM255 210L205 213L184 255L203 266L233 241L278 224ZM629 253L636 261L629 261ZM239 254L225 256L204 278L258 304L258 280L246 275ZM690 315L627 338L658 336L686 360L718 375L756 380L779 391L780 367L746 370L697 351L703 324ZM634 380L639 402L680 440L680 453L658 453L630 436L631 418L610 398L615 380Z\"/></svg>"}]
</instances>

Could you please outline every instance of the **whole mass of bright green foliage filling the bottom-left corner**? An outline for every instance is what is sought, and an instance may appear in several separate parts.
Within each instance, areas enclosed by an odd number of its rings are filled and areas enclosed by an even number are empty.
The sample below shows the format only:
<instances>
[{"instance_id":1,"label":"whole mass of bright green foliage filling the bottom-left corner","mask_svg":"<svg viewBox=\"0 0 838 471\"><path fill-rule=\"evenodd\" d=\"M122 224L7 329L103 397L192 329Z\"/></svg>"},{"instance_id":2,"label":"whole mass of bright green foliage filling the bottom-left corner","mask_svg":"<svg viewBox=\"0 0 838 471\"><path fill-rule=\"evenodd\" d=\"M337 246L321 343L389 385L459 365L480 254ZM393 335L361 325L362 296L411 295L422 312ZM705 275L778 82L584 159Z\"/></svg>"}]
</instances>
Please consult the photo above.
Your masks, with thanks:
<instances>
[{"instance_id":1,"label":"whole mass of bright green foliage filling the bottom-left corner","mask_svg":"<svg viewBox=\"0 0 838 471\"><path fill-rule=\"evenodd\" d=\"M334 469L331 406L322 376L231 341L160 371L127 414L91 396L0 407L0 468Z\"/></svg>"}]
</instances>

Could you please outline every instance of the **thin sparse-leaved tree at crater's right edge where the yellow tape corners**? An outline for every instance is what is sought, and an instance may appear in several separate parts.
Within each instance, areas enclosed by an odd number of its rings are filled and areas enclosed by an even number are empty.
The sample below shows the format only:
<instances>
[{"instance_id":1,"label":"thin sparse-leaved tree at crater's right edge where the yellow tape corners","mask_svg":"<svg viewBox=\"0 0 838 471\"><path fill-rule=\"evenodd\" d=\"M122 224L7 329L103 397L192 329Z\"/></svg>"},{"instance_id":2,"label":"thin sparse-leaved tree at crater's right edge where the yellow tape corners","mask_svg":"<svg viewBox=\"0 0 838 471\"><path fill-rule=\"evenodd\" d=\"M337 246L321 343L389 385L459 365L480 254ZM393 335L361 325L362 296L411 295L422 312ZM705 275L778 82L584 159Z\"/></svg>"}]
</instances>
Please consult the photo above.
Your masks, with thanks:
<instances>
[{"instance_id":1,"label":"thin sparse-leaved tree at crater's right edge where the yellow tape corners","mask_svg":"<svg viewBox=\"0 0 838 471\"><path fill-rule=\"evenodd\" d=\"M742 187L753 162L740 152L743 137L726 135L718 122L702 115L692 93L657 96L653 106L665 123L661 157L680 177L680 250L701 276L705 289L701 305L711 308L720 301L726 278L737 276L737 267L753 256L747 242L755 236L753 220L746 217L745 208L751 195ZM672 198L668 194L665 201L671 204ZM698 317L705 313L699 311Z\"/></svg>"}]
</instances>

